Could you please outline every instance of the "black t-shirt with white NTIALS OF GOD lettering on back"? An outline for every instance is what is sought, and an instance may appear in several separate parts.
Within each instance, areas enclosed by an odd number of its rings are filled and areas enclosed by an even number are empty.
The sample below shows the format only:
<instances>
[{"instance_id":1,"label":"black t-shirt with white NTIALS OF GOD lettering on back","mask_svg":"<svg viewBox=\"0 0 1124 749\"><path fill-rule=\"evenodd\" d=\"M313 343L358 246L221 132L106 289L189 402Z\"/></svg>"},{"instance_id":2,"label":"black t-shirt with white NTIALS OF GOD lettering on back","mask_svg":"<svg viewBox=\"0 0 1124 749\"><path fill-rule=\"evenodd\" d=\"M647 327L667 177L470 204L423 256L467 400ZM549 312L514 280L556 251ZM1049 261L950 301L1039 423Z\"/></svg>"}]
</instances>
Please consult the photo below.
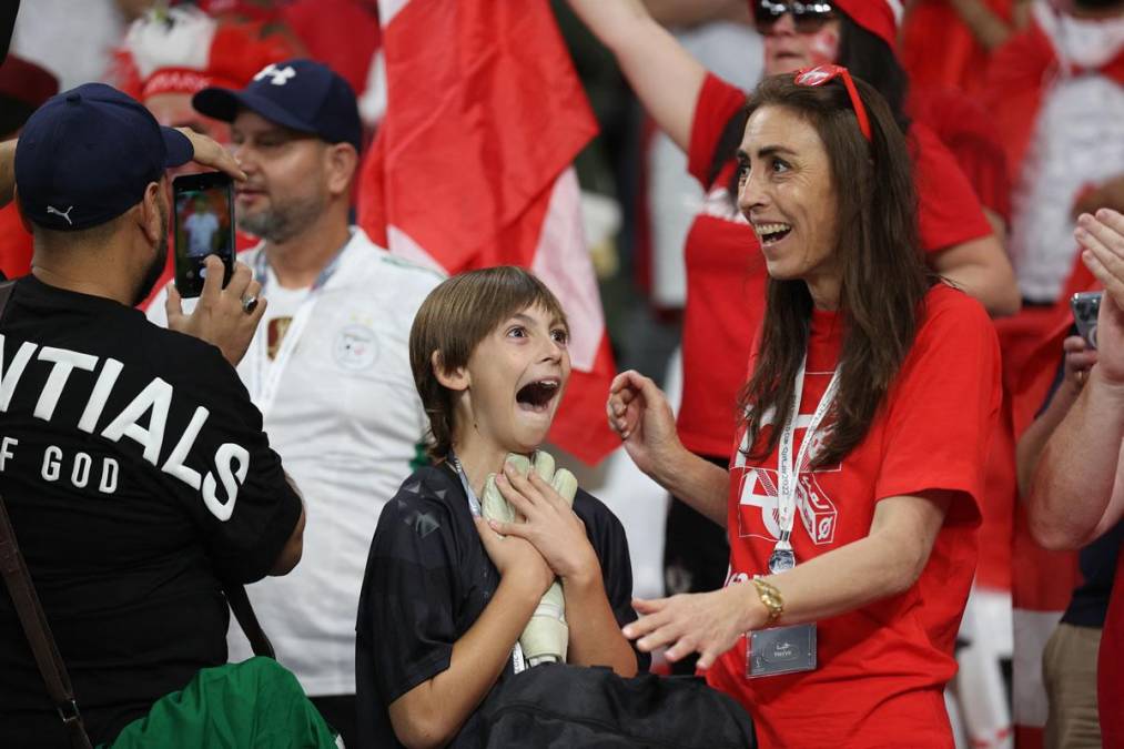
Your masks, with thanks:
<instances>
[{"instance_id":1,"label":"black t-shirt with white NTIALS OF GOD lettering on back","mask_svg":"<svg viewBox=\"0 0 1124 749\"><path fill-rule=\"evenodd\" d=\"M20 279L0 323L0 494L94 743L226 661L219 578L250 583L300 515L217 349ZM66 746L0 593L0 746Z\"/></svg>"}]
</instances>

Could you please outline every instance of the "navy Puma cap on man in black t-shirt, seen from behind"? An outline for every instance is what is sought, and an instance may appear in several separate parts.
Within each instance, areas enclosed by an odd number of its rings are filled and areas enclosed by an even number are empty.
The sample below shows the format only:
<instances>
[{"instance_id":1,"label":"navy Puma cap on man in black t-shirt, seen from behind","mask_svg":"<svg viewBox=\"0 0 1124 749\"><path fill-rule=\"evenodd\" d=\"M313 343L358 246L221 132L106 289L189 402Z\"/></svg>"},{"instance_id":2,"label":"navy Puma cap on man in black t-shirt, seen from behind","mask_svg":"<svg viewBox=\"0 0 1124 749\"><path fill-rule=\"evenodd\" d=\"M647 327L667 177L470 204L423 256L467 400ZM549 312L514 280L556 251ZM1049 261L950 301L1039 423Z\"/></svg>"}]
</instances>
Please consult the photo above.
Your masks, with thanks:
<instances>
[{"instance_id":1,"label":"navy Puma cap on man in black t-shirt, seen from behind","mask_svg":"<svg viewBox=\"0 0 1124 749\"><path fill-rule=\"evenodd\" d=\"M161 127L136 99L84 83L27 120L16 146L16 189L34 224L78 231L117 218L165 169L193 155L182 133Z\"/></svg>"}]
</instances>

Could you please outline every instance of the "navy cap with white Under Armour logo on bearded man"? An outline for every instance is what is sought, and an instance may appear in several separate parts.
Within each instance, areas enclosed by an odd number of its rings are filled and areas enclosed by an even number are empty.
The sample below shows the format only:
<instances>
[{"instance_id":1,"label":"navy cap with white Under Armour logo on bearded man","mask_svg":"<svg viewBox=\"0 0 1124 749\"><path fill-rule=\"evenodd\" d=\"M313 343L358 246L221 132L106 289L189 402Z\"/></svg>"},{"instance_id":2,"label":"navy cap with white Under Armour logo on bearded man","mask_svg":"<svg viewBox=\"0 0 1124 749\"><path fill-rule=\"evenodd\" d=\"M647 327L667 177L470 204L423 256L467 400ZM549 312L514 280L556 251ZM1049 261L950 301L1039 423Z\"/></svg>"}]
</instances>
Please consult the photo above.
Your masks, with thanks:
<instances>
[{"instance_id":1,"label":"navy cap with white Under Armour logo on bearded man","mask_svg":"<svg viewBox=\"0 0 1124 749\"><path fill-rule=\"evenodd\" d=\"M233 123L248 109L284 127L359 151L363 127L355 92L343 78L311 60L270 63L241 91L211 87L191 99L200 112Z\"/></svg>"}]
</instances>

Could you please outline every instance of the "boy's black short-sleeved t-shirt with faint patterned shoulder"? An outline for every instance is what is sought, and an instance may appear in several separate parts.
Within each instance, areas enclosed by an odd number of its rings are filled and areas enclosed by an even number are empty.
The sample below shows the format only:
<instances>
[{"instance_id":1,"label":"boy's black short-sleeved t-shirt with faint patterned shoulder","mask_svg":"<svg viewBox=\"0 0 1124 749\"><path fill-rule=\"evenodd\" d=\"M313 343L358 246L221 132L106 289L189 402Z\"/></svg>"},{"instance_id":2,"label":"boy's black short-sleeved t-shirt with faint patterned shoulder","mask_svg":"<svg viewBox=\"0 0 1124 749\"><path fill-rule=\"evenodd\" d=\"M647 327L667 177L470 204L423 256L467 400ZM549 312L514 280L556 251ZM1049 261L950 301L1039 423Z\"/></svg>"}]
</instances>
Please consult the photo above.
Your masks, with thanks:
<instances>
[{"instance_id":1,"label":"boy's black short-sleeved t-shirt with faint patterned shoulder","mask_svg":"<svg viewBox=\"0 0 1124 749\"><path fill-rule=\"evenodd\" d=\"M617 622L635 621L628 541L616 515L578 490L574 513L601 562ZM446 670L453 644L475 623L499 587L472 522L460 478L447 463L415 471L382 509L359 602L355 687L360 747L401 747L388 706ZM637 653L642 669L649 657ZM514 675L508 659L500 682ZM448 745L479 747L479 713Z\"/></svg>"}]
</instances>

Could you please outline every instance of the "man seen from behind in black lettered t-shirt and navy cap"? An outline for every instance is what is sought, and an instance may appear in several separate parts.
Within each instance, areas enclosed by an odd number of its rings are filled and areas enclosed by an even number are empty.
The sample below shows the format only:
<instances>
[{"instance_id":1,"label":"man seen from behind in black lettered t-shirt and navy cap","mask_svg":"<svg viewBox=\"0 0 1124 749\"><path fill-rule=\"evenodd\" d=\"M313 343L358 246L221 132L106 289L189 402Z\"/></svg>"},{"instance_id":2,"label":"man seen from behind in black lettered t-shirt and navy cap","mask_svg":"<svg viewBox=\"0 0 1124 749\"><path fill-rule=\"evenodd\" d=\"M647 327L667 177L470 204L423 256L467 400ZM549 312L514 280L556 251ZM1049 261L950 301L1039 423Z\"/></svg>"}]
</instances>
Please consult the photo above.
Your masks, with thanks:
<instances>
[{"instance_id":1,"label":"man seen from behind in black lettered t-shirt and navy cap","mask_svg":"<svg viewBox=\"0 0 1124 749\"><path fill-rule=\"evenodd\" d=\"M233 369L265 309L246 312L250 269L221 289L210 258L194 314L170 307L178 332L132 308L164 264L164 170L192 157L243 177L97 83L47 101L15 152L35 256L0 319L0 495L94 743L226 662L220 580L301 553L301 499ZM0 746L65 743L0 594Z\"/></svg>"}]
</instances>

